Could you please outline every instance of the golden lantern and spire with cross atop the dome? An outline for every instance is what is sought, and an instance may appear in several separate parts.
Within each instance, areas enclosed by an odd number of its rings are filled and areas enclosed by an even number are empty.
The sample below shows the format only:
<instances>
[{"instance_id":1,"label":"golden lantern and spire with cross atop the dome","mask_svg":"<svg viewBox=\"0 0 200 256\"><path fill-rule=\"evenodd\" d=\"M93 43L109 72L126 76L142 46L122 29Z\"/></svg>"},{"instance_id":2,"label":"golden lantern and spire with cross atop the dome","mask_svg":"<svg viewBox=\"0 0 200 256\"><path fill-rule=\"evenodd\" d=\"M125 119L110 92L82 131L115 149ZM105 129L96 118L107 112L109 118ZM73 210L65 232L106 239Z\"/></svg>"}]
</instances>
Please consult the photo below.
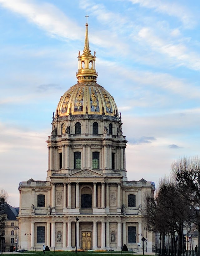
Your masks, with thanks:
<instances>
[{"instance_id":1,"label":"golden lantern and spire with cross atop the dome","mask_svg":"<svg viewBox=\"0 0 200 256\"><path fill-rule=\"evenodd\" d=\"M88 13L85 17L85 46L82 55L80 54L80 51L78 51L78 72L76 73L76 77L78 79L78 83L83 81L93 81L96 83L96 79L98 77L95 69L96 51L94 51L94 55L91 54L88 37Z\"/></svg>"}]
</instances>

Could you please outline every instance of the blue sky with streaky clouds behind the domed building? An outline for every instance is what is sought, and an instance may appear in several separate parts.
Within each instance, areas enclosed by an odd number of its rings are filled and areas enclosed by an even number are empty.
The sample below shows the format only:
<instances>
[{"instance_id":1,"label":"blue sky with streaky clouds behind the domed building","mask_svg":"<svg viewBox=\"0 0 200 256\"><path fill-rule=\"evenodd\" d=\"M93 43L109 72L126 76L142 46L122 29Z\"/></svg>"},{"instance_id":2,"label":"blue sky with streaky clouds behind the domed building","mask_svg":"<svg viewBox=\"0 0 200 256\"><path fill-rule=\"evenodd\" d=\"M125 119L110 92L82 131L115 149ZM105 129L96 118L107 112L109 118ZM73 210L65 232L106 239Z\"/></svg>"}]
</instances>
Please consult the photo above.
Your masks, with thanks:
<instances>
[{"instance_id":1,"label":"blue sky with streaky clouds behind the domed building","mask_svg":"<svg viewBox=\"0 0 200 256\"><path fill-rule=\"evenodd\" d=\"M128 180L170 175L199 154L200 2L0 0L0 188L46 180L47 136L77 83L78 50L96 50L98 84L122 113Z\"/></svg>"}]
</instances>

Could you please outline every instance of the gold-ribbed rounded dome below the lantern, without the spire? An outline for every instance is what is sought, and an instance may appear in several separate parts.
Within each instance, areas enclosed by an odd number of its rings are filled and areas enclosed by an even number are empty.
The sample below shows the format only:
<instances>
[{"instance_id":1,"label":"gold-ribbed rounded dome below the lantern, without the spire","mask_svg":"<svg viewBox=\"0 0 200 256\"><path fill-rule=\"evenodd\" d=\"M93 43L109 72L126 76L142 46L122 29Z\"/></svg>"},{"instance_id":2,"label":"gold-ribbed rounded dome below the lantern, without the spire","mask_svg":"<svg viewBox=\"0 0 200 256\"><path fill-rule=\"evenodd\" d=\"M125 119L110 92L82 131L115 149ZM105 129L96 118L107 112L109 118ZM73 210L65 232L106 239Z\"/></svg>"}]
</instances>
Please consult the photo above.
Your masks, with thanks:
<instances>
[{"instance_id":1,"label":"gold-ribbed rounded dome below the lantern, without the spire","mask_svg":"<svg viewBox=\"0 0 200 256\"><path fill-rule=\"evenodd\" d=\"M96 82L85 81L73 85L61 97L56 117L66 115L106 115L118 117L114 98Z\"/></svg>"}]
</instances>

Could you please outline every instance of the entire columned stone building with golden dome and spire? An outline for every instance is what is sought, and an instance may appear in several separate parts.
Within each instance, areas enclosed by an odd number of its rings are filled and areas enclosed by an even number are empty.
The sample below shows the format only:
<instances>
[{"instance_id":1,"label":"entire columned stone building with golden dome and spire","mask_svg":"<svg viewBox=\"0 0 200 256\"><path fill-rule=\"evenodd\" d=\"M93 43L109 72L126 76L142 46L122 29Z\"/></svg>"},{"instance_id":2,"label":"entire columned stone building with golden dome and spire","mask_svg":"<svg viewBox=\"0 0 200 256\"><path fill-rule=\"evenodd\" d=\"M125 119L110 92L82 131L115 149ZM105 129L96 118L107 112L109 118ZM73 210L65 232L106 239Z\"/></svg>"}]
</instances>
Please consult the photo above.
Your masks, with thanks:
<instances>
[{"instance_id":1,"label":"entire columned stone building with golden dome and spire","mask_svg":"<svg viewBox=\"0 0 200 256\"><path fill-rule=\"evenodd\" d=\"M113 249L124 244L152 251L143 222L143 197L153 182L128 181L121 114L114 98L97 84L86 23L78 83L60 98L48 136L46 181L20 182L19 246L41 250ZM26 233L29 236L24 236ZM31 234L31 235L30 235ZM30 241L29 241L30 239Z\"/></svg>"}]
</instances>

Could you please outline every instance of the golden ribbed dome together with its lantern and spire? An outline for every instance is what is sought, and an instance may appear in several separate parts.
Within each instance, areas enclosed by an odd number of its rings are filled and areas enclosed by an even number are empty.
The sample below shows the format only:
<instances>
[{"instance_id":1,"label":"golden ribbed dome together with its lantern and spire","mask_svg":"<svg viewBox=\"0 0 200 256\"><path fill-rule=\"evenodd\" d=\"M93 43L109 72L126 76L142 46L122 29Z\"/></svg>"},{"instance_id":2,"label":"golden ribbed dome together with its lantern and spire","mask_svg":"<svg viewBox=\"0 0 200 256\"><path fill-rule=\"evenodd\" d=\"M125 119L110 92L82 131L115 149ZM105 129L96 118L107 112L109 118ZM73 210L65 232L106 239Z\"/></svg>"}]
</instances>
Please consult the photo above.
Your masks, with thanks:
<instances>
[{"instance_id":1,"label":"golden ribbed dome together with its lantern and spire","mask_svg":"<svg viewBox=\"0 0 200 256\"><path fill-rule=\"evenodd\" d=\"M91 54L88 39L88 23L85 24L85 46L83 54L78 52L78 83L72 86L60 99L56 117L68 115L103 115L118 117L114 98L96 83L96 51Z\"/></svg>"}]
</instances>

